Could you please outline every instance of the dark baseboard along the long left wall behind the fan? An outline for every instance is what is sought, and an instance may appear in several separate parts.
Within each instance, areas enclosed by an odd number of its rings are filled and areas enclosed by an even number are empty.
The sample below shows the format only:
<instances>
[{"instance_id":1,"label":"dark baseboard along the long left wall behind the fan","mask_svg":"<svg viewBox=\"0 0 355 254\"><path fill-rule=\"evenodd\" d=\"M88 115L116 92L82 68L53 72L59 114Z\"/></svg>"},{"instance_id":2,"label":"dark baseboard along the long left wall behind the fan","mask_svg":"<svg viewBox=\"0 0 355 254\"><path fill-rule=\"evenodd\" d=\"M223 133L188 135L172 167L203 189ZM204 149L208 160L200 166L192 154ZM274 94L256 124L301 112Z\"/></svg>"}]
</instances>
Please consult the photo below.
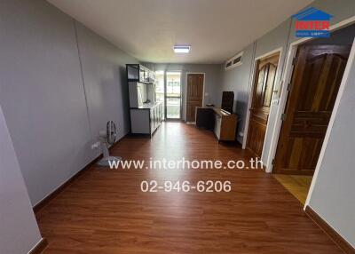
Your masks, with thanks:
<instances>
[{"instance_id":1,"label":"dark baseboard along the long left wall behind the fan","mask_svg":"<svg viewBox=\"0 0 355 254\"><path fill-rule=\"evenodd\" d=\"M109 150L114 148L127 135L128 135L128 133L123 135L121 139L118 139L114 143L114 145L109 148ZM81 169L80 171L77 171L74 176L72 176L70 179L67 179L63 184L61 184L54 191L52 191L51 194L48 194L47 196L45 196L43 198L43 200L36 203L36 205L33 207L35 214L38 213L40 210L42 210L43 207L47 203L51 202L51 200L54 199L58 194L60 194L62 191L64 191L64 189L66 189L71 183L73 183L73 181L75 181L75 179L78 179L83 174L84 171L89 170L94 164L98 163L101 158L102 158L102 155L99 155L98 157L96 157L94 160L92 160L90 163L88 163L85 167L83 167L83 169Z\"/></svg>"}]
</instances>

